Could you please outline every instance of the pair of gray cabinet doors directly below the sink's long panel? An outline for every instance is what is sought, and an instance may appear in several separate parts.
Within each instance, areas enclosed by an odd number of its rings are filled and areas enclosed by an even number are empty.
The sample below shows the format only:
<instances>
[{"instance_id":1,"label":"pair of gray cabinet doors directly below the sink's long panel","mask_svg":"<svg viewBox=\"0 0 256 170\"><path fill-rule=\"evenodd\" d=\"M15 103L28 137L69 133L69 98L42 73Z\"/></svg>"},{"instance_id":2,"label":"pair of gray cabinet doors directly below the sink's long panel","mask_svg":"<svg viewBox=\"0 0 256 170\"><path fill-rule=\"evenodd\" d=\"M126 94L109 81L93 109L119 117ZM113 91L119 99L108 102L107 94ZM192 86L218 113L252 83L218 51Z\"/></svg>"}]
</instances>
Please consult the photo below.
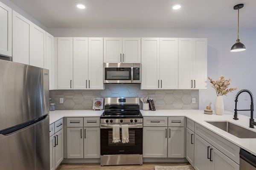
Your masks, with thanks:
<instances>
[{"instance_id":1,"label":"pair of gray cabinet doors directly below the sink's long panel","mask_svg":"<svg viewBox=\"0 0 256 170\"><path fill-rule=\"evenodd\" d=\"M195 134L195 170L239 170L239 165Z\"/></svg>"}]
</instances>

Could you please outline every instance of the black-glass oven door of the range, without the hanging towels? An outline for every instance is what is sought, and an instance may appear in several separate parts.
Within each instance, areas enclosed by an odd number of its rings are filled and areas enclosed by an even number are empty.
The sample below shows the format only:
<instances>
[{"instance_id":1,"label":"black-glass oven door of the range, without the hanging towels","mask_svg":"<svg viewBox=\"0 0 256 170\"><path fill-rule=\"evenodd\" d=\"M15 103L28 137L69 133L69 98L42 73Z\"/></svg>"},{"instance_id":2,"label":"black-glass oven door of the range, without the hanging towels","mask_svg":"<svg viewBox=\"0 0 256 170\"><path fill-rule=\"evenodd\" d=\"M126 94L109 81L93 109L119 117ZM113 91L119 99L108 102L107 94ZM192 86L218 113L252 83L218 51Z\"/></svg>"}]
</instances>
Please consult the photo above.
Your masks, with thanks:
<instances>
[{"instance_id":1,"label":"black-glass oven door of the range, without the hanging towels","mask_svg":"<svg viewBox=\"0 0 256 170\"><path fill-rule=\"evenodd\" d=\"M122 129L120 126L121 142L113 143L112 125L102 124L100 127L101 155L140 154L143 150L143 125L129 124L129 142L122 143Z\"/></svg>"}]
</instances>

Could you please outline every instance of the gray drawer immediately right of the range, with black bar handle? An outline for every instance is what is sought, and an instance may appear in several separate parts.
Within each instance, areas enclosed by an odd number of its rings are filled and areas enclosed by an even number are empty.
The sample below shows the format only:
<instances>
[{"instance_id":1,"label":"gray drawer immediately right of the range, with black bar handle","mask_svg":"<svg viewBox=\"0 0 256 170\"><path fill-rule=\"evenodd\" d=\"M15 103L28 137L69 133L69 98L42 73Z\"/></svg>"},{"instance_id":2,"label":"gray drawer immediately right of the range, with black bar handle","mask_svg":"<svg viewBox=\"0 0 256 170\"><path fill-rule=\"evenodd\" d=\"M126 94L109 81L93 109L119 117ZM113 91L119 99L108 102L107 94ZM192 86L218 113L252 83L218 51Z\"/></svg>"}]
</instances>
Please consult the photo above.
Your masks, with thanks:
<instances>
[{"instance_id":1,"label":"gray drawer immediately right of the range, with black bar handle","mask_svg":"<svg viewBox=\"0 0 256 170\"><path fill-rule=\"evenodd\" d=\"M143 117L143 126L167 127L167 117Z\"/></svg>"}]
</instances>

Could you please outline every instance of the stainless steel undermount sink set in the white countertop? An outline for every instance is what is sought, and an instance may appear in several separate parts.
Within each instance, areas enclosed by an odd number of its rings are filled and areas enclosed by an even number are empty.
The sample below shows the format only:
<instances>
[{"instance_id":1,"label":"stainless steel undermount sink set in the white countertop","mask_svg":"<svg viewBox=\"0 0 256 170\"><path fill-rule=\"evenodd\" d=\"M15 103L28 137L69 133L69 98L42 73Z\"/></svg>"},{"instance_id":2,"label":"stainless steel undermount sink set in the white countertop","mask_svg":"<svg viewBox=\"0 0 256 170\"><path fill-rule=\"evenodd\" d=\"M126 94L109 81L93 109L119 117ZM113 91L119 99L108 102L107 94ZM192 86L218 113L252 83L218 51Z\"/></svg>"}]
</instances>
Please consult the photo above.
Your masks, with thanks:
<instances>
[{"instance_id":1,"label":"stainless steel undermount sink set in the white countertop","mask_svg":"<svg viewBox=\"0 0 256 170\"><path fill-rule=\"evenodd\" d=\"M224 130L238 138L256 138L256 132L252 131L252 130L248 130L244 127L235 125L233 123L230 122L211 122L211 121L206 121L207 123L216 126L218 128L220 128L221 130Z\"/></svg>"}]
</instances>

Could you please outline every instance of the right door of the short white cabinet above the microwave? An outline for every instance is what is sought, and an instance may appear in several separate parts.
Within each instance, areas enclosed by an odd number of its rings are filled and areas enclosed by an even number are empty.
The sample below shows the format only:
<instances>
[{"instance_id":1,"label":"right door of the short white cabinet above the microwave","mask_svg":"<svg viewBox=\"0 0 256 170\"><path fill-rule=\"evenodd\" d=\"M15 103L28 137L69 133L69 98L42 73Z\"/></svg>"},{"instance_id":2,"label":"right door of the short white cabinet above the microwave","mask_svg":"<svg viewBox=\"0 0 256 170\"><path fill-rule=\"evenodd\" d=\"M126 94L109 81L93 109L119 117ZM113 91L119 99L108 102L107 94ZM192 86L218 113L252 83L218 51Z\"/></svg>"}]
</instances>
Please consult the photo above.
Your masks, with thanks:
<instances>
[{"instance_id":1,"label":"right door of the short white cabinet above the microwave","mask_svg":"<svg viewBox=\"0 0 256 170\"><path fill-rule=\"evenodd\" d=\"M141 42L140 38L122 38L122 62L140 63Z\"/></svg>"}]
</instances>

